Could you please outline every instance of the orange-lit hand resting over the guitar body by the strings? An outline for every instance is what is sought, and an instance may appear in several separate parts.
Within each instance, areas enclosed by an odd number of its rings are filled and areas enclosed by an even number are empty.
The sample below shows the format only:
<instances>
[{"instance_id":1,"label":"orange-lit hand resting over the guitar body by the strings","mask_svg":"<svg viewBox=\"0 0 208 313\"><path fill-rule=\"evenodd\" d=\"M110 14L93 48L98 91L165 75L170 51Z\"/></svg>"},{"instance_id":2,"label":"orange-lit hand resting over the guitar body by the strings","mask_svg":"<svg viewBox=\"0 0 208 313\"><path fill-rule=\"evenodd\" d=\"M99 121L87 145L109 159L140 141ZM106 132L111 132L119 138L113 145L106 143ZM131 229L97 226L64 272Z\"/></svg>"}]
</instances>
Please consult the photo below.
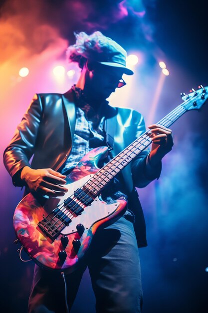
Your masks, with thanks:
<instances>
[{"instance_id":1,"label":"orange-lit hand resting over the guitar body by the strings","mask_svg":"<svg viewBox=\"0 0 208 313\"><path fill-rule=\"evenodd\" d=\"M66 175L51 168L33 169L24 166L21 171L21 179L26 182L30 191L40 192L48 196L62 196L68 189L63 184L66 183Z\"/></svg>"}]
</instances>

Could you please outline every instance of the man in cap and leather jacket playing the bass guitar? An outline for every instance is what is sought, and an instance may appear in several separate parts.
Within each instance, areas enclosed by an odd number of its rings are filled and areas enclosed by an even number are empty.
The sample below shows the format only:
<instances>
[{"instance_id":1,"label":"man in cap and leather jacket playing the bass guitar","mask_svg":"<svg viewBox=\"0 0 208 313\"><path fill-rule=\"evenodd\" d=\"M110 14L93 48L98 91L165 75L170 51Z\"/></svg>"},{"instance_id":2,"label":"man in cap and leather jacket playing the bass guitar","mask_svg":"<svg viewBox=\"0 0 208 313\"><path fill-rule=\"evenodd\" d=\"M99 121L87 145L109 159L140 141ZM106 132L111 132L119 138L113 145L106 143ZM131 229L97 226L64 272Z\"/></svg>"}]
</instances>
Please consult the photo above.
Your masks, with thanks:
<instances>
[{"instance_id":1,"label":"man in cap and leather jacket playing the bass guitar","mask_svg":"<svg viewBox=\"0 0 208 313\"><path fill-rule=\"evenodd\" d=\"M106 100L111 92L125 84L123 73L133 74L126 67L126 51L117 42L99 31L91 35L80 32L76 34L76 43L69 46L67 56L81 67L77 83L64 95L36 94L4 151L4 164L13 184L24 185L25 194L32 192L52 199L64 197L69 192L67 177L72 179L73 173L74 180L78 180L79 170L90 171L87 162L77 165L85 154L93 148L107 146L108 156L102 160L102 165L106 164L145 132L140 113L111 107ZM69 309L88 266L97 312L141 311L138 246L146 246L147 242L144 215L135 187L144 187L160 176L161 160L173 146L169 128L153 124L149 129L151 150L145 149L137 155L102 190L102 201L113 203L118 198L125 199L125 203L128 201L123 215L101 225L80 266L70 273L65 272ZM79 214L81 216L81 211ZM46 231L43 226L42 229ZM64 256L64 249L61 251L59 261L63 265L68 256ZM66 311L60 271L44 268L50 267L50 257L47 252L46 266L42 268L38 265L43 252L38 254L29 298L30 313Z\"/></svg>"}]
</instances>

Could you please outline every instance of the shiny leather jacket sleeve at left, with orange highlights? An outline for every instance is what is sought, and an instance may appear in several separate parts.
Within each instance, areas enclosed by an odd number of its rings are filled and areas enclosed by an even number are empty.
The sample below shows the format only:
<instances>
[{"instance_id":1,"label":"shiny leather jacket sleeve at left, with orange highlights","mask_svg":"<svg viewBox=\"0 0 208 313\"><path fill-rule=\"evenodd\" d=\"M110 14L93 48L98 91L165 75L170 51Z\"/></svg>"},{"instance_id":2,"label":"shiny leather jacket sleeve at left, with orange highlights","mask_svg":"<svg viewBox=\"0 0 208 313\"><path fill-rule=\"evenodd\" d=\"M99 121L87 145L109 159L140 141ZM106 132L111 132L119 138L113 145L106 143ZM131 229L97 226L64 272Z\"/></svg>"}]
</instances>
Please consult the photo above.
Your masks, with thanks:
<instances>
[{"instance_id":1,"label":"shiny leather jacket sleeve at left, with orange highlights","mask_svg":"<svg viewBox=\"0 0 208 313\"><path fill-rule=\"evenodd\" d=\"M12 176L15 186L22 186L21 169L30 166L29 160L34 153L35 141L42 117L40 96L35 94L15 133L3 152L4 165Z\"/></svg>"}]
</instances>

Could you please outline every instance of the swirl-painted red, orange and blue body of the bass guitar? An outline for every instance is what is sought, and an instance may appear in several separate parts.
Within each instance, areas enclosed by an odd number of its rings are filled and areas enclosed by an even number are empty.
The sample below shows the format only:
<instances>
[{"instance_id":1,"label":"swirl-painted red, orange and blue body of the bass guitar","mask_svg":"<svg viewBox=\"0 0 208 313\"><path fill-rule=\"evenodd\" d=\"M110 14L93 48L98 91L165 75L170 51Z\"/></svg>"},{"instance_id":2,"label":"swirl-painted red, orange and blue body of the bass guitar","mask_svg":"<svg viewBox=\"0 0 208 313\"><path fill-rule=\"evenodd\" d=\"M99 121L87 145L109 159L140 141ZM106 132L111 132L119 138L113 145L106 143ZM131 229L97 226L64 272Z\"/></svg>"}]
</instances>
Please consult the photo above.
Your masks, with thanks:
<instances>
[{"instance_id":1,"label":"swirl-painted red, orange and blue body of the bass guitar","mask_svg":"<svg viewBox=\"0 0 208 313\"><path fill-rule=\"evenodd\" d=\"M85 205L73 195L73 201L81 204L79 208L81 207L82 211L76 215L73 207L70 210L64 204L65 208L61 213L60 210L55 211L51 216L49 215L44 224L44 217L55 208L61 207L60 203L64 200L71 199L73 192L80 189L98 171L98 161L105 158L107 153L108 148L105 146L87 153L67 176L66 187L69 191L64 196L38 199L37 196L29 193L17 205L13 216L14 230L24 249L38 265L73 271L88 250L97 228L106 225L109 221L112 223L125 212L127 202L124 197L108 204L101 196L97 196L91 203ZM62 215L70 216L71 221L68 226L62 222ZM38 225L40 221L42 221L41 227ZM66 224L67 222L68 219ZM60 223L62 225L59 227ZM56 231L58 233L53 236L51 231L54 227L58 228Z\"/></svg>"}]
</instances>

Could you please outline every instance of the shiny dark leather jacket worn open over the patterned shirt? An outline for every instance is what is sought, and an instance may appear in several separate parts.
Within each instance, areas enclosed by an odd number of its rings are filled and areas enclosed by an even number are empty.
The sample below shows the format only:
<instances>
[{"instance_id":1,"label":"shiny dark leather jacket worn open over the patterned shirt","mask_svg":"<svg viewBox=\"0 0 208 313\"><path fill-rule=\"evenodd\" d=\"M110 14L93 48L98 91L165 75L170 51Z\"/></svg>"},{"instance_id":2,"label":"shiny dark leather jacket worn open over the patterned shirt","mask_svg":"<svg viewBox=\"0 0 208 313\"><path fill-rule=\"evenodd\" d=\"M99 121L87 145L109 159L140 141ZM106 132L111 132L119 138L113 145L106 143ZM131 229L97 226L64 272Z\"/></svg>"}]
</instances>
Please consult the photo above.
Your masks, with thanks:
<instances>
[{"instance_id":1,"label":"shiny dark leather jacket worn open over the patterned shirt","mask_svg":"<svg viewBox=\"0 0 208 313\"><path fill-rule=\"evenodd\" d=\"M145 131L143 116L130 108L107 105L106 121L115 122L114 157ZM58 170L70 154L76 122L73 90L64 94L35 94L3 154L4 165L15 186L22 186L20 172L24 166ZM135 214L135 233L138 246L146 246L146 227L135 186L144 187L159 177L161 165L147 177L149 151L141 152L122 171L131 207Z\"/></svg>"}]
</instances>

